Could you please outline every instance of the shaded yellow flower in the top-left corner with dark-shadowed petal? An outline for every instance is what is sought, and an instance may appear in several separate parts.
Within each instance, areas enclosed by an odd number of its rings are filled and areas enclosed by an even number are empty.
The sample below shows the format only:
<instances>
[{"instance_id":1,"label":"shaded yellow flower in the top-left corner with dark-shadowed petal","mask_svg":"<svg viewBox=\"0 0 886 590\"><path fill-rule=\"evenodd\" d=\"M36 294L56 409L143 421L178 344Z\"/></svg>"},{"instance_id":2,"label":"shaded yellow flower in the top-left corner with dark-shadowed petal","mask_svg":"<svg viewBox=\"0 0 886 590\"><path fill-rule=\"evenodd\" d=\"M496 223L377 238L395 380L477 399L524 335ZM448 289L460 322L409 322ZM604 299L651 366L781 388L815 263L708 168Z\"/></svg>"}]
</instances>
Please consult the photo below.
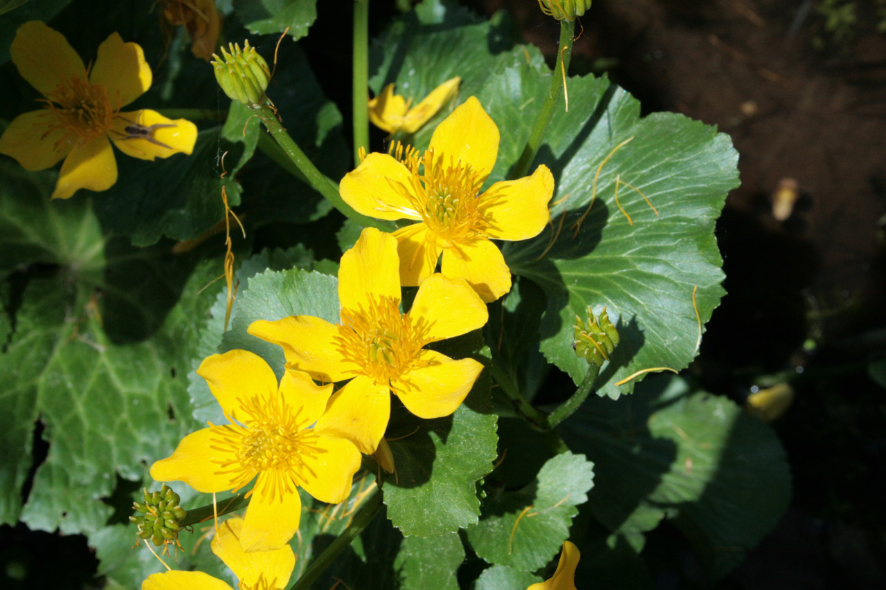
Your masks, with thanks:
<instances>
[{"instance_id":1,"label":"shaded yellow flower in the top-left corner with dark-shadowed petal","mask_svg":"<svg viewBox=\"0 0 886 590\"><path fill-rule=\"evenodd\" d=\"M87 72L64 35L30 20L16 31L9 52L19 74L45 98L43 109L12 120L0 137L0 153L26 170L43 170L64 158L52 198L68 198L78 189L107 190L117 182L108 138L139 159L193 150L197 128L189 120L149 110L120 112L151 87L151 68L136 43L123 43L113 33L98 46Z\"/></svg>"}]
</instances>

